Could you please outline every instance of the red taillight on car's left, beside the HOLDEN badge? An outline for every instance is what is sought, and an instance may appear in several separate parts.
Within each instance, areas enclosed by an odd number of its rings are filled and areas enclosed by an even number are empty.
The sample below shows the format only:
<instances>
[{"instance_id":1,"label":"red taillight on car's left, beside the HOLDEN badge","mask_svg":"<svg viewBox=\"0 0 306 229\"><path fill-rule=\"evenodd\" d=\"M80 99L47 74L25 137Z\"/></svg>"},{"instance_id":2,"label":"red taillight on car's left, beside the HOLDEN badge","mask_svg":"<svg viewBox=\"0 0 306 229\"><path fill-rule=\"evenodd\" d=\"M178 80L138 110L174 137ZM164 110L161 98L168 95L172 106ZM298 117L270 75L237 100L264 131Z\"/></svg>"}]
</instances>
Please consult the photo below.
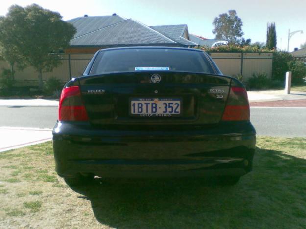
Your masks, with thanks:
<instances>
[{"instance_id":1,"label":"red taillight on car's left, beside the HOLDEN badge","mask_svg":"<svg viewBox=\"0 0 306 229\"><path fill-rule=\"evenodd\" d=\"M88 116L81 100L79 86L66 87L62 90L58 120L60 121L87 121Z\"/></svg>"}]
</instances>

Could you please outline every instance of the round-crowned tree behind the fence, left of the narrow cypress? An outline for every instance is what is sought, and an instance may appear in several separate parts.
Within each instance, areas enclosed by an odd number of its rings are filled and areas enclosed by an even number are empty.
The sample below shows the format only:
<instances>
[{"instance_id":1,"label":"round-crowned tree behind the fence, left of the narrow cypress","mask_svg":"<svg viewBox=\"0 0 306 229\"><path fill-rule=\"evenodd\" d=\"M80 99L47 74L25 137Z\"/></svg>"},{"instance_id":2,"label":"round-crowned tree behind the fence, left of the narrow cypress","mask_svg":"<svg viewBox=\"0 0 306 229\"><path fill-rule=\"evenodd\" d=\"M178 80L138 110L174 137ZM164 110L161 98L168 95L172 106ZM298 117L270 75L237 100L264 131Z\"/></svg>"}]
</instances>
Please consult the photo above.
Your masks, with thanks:
<instances>
[{"instance_id":1,"label":"round-crowned tree behind the fence, left of the narrow cypress","mask_svg":"<svg viewBox=\"0 0 306 229\"><path fill-rule=\"evenodd\" d=\"M229 44L239 44L244 33L242 32L242 21L235 10L220 14L212 24L214 25L212 33L216 35L216 39L228 41Z\"/></svg>"}]
</instances>

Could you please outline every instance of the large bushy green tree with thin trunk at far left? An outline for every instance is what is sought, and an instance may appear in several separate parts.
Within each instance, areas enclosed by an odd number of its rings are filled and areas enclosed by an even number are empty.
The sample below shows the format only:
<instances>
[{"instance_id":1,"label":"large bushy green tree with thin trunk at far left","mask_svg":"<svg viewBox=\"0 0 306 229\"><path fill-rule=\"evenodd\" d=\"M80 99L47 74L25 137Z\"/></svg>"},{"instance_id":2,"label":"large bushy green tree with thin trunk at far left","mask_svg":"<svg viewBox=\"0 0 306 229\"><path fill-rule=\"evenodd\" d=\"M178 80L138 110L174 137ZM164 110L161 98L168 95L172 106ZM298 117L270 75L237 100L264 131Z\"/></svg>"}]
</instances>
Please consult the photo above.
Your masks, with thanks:
<instances>
[{"instance_id":1,"label":"large bushy green tree with thin trunk at far left","mask_svg":"<svg viewBox=\"0 0 306 229\"><path fill-rule=\"evenodd\" d=\"M58 52L69 46L76 29L57 13L37 4L25 8L13 5L1 20L1 29L11 39L10 50L18 52L24 62L38 72L39 88L43 72L58 66Z\"/></svg>"}]
</instances>

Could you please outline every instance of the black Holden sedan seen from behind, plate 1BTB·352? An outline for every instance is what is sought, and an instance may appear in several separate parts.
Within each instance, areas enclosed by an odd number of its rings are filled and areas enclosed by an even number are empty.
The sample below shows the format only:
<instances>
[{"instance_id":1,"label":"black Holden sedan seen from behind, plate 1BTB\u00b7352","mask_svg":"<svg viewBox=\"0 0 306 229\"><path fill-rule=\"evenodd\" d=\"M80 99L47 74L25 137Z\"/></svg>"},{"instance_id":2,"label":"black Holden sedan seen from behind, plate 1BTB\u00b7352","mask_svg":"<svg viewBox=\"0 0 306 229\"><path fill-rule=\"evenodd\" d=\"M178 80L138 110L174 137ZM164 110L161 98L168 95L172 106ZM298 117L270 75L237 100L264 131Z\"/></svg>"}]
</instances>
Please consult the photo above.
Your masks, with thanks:
<instances>
[{"instance_id":1,"label":"black Holden sedan seen from behind, plate 1BTB\u00b7352","mask_svg":"<svg viewBox=\"0 0 306 229\"><path fill-rule=\"evenodd\" d=\"M234 184L252 169L255 141L243 84L189 48L98 51L64 86L53 129L68 184L212 175Z\"/></svg>"}]
</instances>

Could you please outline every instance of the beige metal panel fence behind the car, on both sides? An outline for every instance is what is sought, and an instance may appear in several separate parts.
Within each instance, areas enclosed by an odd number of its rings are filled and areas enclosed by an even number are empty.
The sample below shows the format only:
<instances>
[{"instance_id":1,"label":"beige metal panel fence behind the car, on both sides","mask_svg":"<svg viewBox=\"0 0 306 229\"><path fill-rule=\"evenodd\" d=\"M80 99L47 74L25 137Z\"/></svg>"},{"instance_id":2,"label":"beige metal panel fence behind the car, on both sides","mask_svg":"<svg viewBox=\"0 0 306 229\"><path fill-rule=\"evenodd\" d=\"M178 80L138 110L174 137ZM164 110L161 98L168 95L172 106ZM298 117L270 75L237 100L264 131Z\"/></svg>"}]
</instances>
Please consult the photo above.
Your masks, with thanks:
<instances>
[{"instance_id":1,"label":"beige metal panel fence behind the car, on both sides","mask_svg":"<svg viewBox=\"0 0 306 229\"><path fill-rule=\"evenodd\" d=\"M62 54L62 64L54 68L52 72L43 74L43 79L54 76L61 81L69 81L73 76L83 73L87 63L93 54ZM224 75L243 75L244 80L253 73L265 72L271 77L272 53L211 53L212 59L219 66ZM0 61L0 70L9 68L5 61ZM32 67L23 71L16 71L15 79L19 85L36 85L38 73Z\"/></svg>"}]
</instances>

